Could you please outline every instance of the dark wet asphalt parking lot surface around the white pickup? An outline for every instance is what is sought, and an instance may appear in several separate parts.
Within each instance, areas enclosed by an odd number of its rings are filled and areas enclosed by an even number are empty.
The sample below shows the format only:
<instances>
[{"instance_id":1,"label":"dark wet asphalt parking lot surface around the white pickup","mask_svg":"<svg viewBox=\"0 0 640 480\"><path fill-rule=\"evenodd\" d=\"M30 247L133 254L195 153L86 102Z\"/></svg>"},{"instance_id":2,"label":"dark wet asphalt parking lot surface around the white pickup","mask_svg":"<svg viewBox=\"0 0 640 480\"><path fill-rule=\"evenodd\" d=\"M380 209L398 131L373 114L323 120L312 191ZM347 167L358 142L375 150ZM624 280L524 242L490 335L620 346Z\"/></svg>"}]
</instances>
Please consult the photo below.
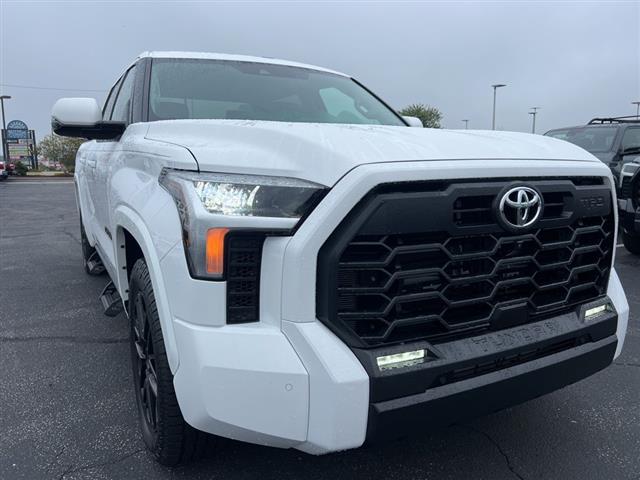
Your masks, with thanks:
<instances>
[{"instance_id":1,"label":"dark wet asphalt parking lot surface around the white pickup","mask_svg":"<svg viewBox=\"0 0 640 480\"><path fill-rule=\"evenodd\" d=\"M215 440L157 465L138 433L128 329L102 314L69 180L0 183L0 479L638 479L640 258L617 249L631 305L606 370L463 425L313 457Z\"/></svg>"}]
</instances>

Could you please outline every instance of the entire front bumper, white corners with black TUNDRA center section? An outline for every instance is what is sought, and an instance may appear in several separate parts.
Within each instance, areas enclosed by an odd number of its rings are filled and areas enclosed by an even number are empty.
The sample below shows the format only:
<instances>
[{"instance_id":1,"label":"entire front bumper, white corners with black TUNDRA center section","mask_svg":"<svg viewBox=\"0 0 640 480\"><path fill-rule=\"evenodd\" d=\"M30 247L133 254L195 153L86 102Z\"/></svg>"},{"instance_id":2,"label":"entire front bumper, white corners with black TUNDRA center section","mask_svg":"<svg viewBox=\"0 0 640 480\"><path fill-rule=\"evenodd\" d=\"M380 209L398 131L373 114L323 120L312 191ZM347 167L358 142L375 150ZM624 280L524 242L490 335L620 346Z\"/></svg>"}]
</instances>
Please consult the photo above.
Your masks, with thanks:
<instances>
[{"instance_id":1,"label":"entire front bumper, white corners with black TUNDRA center section","mask_svg":"<svg viewBox=\"0 0 640 480\"><path fill-rule=\"evenodd\" d=\"M312 454L450 425L607 367L628 317L619 282L612 283L617 312L597 321L586 324L571 313L441 344L434 348L440 359L386 377L373 371L375 353L354 355L320 322L284 322L281 331L176 321L178 401L200 430Z\"/></svg>"}]
</instances>

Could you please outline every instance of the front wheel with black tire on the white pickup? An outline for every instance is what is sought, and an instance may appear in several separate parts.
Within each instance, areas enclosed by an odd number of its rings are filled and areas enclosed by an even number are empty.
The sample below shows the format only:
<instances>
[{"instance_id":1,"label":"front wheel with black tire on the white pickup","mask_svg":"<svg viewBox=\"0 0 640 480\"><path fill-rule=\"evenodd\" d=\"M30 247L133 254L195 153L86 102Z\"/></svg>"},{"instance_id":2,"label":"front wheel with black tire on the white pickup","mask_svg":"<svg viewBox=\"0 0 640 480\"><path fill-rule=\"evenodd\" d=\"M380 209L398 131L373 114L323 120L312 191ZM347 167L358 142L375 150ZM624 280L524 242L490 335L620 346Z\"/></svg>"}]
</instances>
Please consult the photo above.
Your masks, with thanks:
<instances>
[{"instance_id":1,"label":"front wheel with black tire on the white pickup","mask_svg":"<svg viewBox=\"0 0 640 480\"><path fill-rule=\"evenodd\" d=\"M136 261L129 280L131 363L142 438L162 465L201 458L211 436L184 420L164 347L147 264Z\"/></svg>"}]
</instances>

